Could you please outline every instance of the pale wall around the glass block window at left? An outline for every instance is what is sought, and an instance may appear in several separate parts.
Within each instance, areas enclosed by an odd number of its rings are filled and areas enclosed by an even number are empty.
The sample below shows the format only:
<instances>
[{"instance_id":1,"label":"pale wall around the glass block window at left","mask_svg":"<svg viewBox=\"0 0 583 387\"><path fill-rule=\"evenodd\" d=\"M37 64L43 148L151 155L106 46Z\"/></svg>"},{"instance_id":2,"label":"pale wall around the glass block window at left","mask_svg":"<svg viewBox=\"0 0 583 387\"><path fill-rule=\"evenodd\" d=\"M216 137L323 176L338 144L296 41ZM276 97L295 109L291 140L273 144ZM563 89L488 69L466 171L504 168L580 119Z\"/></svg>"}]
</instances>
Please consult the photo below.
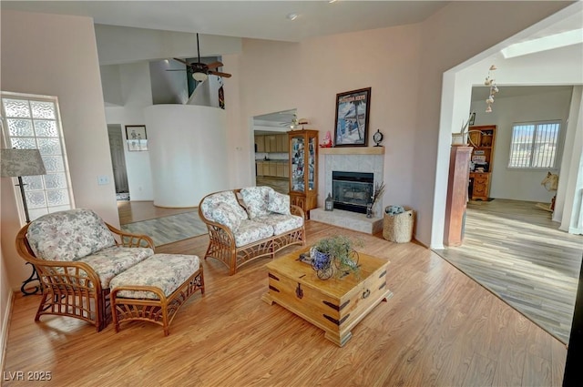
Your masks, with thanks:
<instances>
[{"instance_id":1,"label":"pale wall around the glass block window at left","mask_svg":"<svg viewBox=\"0 0 583 387\"><path fill-rule=\"evenodd\" d=\"M58 97L73 195L118 226L118 207L93 21L87 17L2 11L2 90ZM97 185L107 175L108 185ZM2 255L12 289L30 275L14 247L22 226L11 184L2 181ZM6 189L5 189L6 188Z\"/></svg>"}]
</instances>

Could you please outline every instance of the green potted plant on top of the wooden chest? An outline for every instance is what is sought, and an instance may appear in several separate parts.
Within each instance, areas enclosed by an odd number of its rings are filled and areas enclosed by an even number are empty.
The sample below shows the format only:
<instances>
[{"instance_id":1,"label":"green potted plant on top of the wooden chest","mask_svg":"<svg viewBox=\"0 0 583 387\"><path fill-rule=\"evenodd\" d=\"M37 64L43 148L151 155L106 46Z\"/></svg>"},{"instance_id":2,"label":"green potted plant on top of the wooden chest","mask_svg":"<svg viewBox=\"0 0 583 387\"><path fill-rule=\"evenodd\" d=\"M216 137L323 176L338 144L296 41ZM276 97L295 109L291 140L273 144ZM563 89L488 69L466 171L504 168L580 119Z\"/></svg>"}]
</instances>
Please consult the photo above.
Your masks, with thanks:
<instances>
[{"instance_id":1,"label":"green potted plant on top of the wooden chest","mask_svg":"<svg viewBox=\"0 0 583 387\"><path fill-rule=\"evenodd\" d=\"M354 246L363 246L360 239L353 240L343 235L320 239L312 247L312 268L318 277L328 280L332 274L343 277L353 272L358 275L358 253Z\"/></svg>"}]
</instances>

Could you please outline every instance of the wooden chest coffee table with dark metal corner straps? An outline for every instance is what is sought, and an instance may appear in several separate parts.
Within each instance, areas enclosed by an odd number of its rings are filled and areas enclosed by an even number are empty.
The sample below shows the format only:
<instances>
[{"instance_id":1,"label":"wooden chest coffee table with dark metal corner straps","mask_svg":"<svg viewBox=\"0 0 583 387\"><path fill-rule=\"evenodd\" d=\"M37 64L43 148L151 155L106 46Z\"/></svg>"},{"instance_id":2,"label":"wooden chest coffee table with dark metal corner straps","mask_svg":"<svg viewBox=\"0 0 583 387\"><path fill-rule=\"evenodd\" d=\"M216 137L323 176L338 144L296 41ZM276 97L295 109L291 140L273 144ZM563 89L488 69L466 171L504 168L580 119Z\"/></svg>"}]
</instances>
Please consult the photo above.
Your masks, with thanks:
<instances>
[{"instance_id":1,"label":"wooden chest coffee table with dark metal corner straps","mask_svg":"<svg viewBox=\"0 0 583 387\"><path fill-rule=\"evenodd\" d=\"M382 300L393 296L386 288L388 260L359 253L360 274L320 280L297 250L267 264L269 290L262 300L280 304L325 331L325 338L343 346L351 330Z\"/></svg>"}]
</instances>

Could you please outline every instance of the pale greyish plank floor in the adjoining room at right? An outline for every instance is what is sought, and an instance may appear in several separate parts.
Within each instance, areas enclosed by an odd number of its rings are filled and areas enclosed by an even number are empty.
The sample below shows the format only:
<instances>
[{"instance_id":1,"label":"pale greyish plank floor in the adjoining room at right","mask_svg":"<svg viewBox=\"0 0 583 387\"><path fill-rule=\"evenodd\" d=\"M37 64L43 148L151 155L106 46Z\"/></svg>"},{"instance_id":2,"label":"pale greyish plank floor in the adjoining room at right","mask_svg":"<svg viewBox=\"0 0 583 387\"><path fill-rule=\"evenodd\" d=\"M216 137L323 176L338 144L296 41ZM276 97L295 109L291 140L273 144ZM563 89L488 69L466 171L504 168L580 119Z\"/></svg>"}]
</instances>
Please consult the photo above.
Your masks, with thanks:
<instances>
[{"instance_id":1,"label":"pale greyish plank floor in the adjoining room at right","mask_svg":"<svg viewBox=\"0 0 583 387\"><path fill-rule=\"evenodd\" d=\"M437 253L567 343L583 237L558 225L533 202L470 202L464 244Z\"/></svg>"}]
</instances>

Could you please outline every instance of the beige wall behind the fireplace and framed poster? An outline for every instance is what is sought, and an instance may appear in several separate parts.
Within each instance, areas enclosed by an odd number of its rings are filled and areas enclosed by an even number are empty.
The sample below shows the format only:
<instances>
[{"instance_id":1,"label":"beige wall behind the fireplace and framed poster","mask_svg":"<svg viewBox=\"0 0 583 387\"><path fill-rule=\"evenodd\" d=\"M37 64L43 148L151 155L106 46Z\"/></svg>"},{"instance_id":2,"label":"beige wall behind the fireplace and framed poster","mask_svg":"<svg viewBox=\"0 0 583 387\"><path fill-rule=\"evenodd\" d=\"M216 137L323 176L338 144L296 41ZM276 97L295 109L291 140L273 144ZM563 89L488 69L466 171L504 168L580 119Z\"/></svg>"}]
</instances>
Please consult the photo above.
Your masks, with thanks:
<instances>
[{"instance_id":1,"label":"beige wall behind the fireplace and framed poster","mask_svg":"<svg viewBox=\"0 0 583 387\"><path fill-rule=\"evenodd\" d=\"M384 202L409 205L414 178L410 149L414 147L412 134L419 114L414 104L419 51L419 25L323 36L298 44L244 40L240 59L241 122L247 117L297 107L298 117L310 122L306 128L320 130L322 142L326 131L334 134L336 94L372 87L369 132L378 128L385 136ZM248 133L251 130L241 127ZM250 141L245 145L249 153ZM251 176L253 164L240 160L243 163L245 174ZM324 181L321 176L320 206L325 199Z\"/></svg>"}]
</instances>

